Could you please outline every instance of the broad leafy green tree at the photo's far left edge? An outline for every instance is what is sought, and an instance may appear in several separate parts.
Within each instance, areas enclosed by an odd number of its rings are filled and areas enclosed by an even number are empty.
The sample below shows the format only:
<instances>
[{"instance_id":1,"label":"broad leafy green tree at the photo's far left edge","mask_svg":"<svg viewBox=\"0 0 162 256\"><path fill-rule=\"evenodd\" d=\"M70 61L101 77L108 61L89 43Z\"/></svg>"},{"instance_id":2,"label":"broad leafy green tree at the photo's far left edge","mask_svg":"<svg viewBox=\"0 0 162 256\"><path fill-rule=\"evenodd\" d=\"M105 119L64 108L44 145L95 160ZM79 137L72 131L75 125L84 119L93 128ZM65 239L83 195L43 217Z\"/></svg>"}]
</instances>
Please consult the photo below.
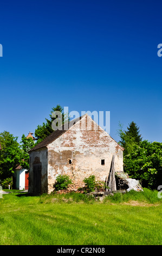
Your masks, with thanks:
<instances>
[{"instance_id":1,"label":"broad leafy green tree at the photo's far left edge","mask_svg":"<svg viewBox=\"0 0 162 256\"><path fill-rule=\"evenodd\" d=\"M14 137L8 131L0 133L0 179L10 178L17 164L22 160L22 150Z\"/></svg>"}]
</instances>

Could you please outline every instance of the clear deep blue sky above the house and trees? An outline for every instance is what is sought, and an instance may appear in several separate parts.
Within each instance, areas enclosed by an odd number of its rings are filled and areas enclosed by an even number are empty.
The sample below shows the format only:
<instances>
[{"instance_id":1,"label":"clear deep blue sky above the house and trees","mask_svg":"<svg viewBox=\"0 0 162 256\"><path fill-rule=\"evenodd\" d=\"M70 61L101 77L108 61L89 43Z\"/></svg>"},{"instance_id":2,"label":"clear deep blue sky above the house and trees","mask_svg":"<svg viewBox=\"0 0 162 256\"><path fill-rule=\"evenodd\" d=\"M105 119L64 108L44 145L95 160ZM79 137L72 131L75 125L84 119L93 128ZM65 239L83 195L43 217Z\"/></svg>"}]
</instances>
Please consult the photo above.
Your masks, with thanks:
<instances>
[{"instance_id":1,"label":"clear deep blue sky above the house and trees","mask_svg":"<svg viewBox=\"0 0 162 256\"><path fill-rule=\"evenodd\" d=\"M110 111L162 141L161 1L1 1L0 132L18 141L60 104Z\"/></svg>"}]
</instances>

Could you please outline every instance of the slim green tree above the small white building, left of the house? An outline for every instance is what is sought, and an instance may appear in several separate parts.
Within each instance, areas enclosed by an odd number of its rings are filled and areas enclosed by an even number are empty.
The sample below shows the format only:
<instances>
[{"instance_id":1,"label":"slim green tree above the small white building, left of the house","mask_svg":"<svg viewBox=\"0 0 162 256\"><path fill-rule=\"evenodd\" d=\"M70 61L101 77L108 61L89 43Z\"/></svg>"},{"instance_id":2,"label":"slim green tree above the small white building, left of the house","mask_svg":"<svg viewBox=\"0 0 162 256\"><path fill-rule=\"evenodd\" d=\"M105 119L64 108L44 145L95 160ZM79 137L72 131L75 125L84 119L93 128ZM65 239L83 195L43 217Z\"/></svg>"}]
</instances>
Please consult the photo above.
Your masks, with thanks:
<instances>
[{"instance_id":1,"label":"slim green tree above the small white building, left of the house","mask_svg":"<svg viewBox=\"0 0 162 256\"><path fill-rule=\"evenodd\" d=\"M33 141L33 138L29 137L25 137L25 135L22 135L22 139L21 139L21 148L22 148L22 160L21 160L21 166L24 169L29 170L29 153L28 151L31 148L34 148L35 143Z\"/></svg>"}]
</instances>

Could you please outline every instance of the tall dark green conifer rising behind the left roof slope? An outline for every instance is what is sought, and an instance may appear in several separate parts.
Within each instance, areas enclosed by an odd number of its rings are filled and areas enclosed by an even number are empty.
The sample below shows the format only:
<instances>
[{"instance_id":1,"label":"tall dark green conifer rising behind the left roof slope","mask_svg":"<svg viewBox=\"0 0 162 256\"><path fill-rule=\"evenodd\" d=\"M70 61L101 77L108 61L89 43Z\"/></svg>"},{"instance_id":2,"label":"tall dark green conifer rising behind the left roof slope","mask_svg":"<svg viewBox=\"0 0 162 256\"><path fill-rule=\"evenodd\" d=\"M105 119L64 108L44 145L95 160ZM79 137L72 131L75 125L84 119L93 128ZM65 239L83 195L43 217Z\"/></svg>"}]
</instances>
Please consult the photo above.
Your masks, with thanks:
<instances>
[{"instance_id":1,"label":"tall dark green conifer rising behind the left roof slope","mask_svg":"<svg viewBox=\"0 0 162 256\"><path fill-rule=\"evenodd\" d=\"M57 118L57 116L53 117L53 112L55 111L59 111L62 113L62 119ZM43 125L38 125L37 129L35 130L35 138L37 140L36 144L40 143L41 141L43 141L44 138L46 138L48 135L54 132L52 128L52 123L56 118L59 119L56 126L63 125L64 121L67 120L67 115L63 113L63 108L60 105L53 107L50 113L51 113L49 115L50 119L46 118L46 123L43 123Z\"/></svg>"}]
</instances>

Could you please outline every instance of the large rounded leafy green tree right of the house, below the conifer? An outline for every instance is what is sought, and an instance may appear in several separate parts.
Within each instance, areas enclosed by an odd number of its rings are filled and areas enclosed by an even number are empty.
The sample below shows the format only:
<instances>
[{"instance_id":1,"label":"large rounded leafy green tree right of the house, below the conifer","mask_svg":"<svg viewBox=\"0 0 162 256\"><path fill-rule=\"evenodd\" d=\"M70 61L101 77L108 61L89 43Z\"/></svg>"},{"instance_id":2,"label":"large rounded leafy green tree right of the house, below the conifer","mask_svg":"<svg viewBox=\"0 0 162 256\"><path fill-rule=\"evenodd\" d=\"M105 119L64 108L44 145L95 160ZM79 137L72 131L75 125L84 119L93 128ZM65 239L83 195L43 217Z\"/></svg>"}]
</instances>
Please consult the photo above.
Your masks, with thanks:
<instances>
[{"instance_id":1,"label":"large rounded leafy green tree right of the house, below the conifer","mask_svg":"<svg viewBox=\"0 0 162 256\"><path fill-rule=\"evenodd\" d=\"M157 189L162 185L162 143L141 141L124 156L124 171L141 180L143 187Z\"/></svg>"}]
</instances>

